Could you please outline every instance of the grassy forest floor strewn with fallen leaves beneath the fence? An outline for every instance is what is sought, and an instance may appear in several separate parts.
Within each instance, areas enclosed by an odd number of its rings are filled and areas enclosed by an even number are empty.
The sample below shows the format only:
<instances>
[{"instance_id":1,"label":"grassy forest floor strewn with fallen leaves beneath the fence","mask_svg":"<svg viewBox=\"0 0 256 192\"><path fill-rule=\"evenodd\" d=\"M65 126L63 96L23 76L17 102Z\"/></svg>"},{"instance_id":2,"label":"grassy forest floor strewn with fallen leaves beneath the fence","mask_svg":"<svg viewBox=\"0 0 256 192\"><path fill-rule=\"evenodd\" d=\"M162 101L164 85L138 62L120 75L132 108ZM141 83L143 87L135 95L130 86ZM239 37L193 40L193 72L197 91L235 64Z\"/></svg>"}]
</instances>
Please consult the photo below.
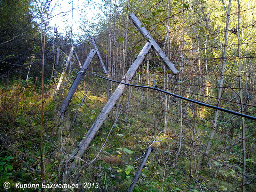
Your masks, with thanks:
<instances>
[{"instance_id":1,"label":"grassy forest floor strewn with fallen leaves beneath the fence","mask_svg":"<svg viewBox=\"0 0 256 192\"><path fill-rule=\"evenodd\" d=\"M19 191L14 188L17 182L35 183L41 186L40 116L42 98L39 87L33 82L28 82L25 89L24 85L25 82L20 79L0 85L0 191ZM76 93L76 96L79 97L79 94L82 95L82 93ZM79 102L73 102L69 109L70 113L66 114L68 117L62 124L56 126L55 117L59 107L56 103L60 98L54 97L53 91L45 92L45 97L45 182L79 184L78 189L69 189L70 191L127 191L140 163L140 160L136 159L142 156L142 153L146 151L159 133L158 129L154 130L149 126L154 124L153 120L140 112L137 114L138 117L136 115L126 117L126 114L121 110L117 124L113 127L111 136L97 160L90 165L80 162L78 167L67 175L62 172L67 158L62 151L67 154L72 153L107 100L100 94L88 91L84 102L86 105L82 106L79 118L73 128L68 131L74 116L71 112L76 112L76 106L79 105ZM136 105L135 101L131 101L130 105ZM108 120L105 121L83 156L85 162L92 161L100 151L118 112L118 108L113 110ZM151 115L152 111L149 110L149 116ZM214 159L225 157L226 161L223 163L227 166L210 159L207 165L197 170L195 164L198 165L201 158L200 153L192 150L193 148L182 145L180 156L176 157L179 125L173 123L172 129L176 131L167 134L161 142L157 143L157 146L155 143L152 145L154 150L151 152L133 191L241 190L237 186L242 180L238 173L241 172L242 162L237 160L240 156L235 151L240 151L240 148L229 150L214 157ZM189 128L185 127L185 129ZM163 134L157 140L160 140L162 136ZM187 133L183 142L192 144L191 137L192 135ZM204 137L203 140L207 140L207 137ZM194 145L200 145L200 143L194 143ZM212 147L221 148L222 145L224 145L223 140L216 140ZM255 145L251 147L252 153L248 158L247 167L253 176L252 174L256 170ZM11 183L11 188L8 190L3 188L5 181ZM95 183L95 186L88 188L88 183ZM99 186L97 189L96 183ZM85 185L88 185L86 189L84 188ZM34 190L26 189L26 191ZM61 190L49 189L48 191ZM246 191L256 191L256 185L247 185Z\"/></svg>"}]
</instances>

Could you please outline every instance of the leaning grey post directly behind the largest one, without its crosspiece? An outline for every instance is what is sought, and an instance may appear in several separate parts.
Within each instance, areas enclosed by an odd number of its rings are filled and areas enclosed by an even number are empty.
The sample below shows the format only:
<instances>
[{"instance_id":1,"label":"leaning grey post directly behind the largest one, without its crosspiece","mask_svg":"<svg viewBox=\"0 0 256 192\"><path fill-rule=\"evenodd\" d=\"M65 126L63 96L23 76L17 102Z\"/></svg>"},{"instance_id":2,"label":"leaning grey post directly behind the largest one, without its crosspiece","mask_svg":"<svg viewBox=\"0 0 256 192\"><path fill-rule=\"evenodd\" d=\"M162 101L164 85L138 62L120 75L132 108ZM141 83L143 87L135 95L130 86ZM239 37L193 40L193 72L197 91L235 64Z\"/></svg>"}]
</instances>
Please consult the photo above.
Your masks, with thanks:
<instances>
[{"instance_id":1,"label":"leaning grey post directly behind the largest one, without its crosspiece","mask_svg":"<svg viewBox=\"0 0 256 192\"><path fill-rule=\"evenodd\" d=\"M76 91L76 88L78 87L78 84L80 83L81 79L83 78L84 73L85 73L87 67L89 66L89 64L91 63L92 58L94 57L95 53L96 53L96 51L94 49L92 49L91 52L88 54L86 60L84 61L83 67L80 69L79 73L77 74L76 79L74 80L73 84L71 85L71 87L68 91L68 94L60 107L60 111L58 113L59 117L64 117L64 113L68 107L68 104L69 104L71 98L73 97L73 95Z\"/></svg>"}]
</instances>

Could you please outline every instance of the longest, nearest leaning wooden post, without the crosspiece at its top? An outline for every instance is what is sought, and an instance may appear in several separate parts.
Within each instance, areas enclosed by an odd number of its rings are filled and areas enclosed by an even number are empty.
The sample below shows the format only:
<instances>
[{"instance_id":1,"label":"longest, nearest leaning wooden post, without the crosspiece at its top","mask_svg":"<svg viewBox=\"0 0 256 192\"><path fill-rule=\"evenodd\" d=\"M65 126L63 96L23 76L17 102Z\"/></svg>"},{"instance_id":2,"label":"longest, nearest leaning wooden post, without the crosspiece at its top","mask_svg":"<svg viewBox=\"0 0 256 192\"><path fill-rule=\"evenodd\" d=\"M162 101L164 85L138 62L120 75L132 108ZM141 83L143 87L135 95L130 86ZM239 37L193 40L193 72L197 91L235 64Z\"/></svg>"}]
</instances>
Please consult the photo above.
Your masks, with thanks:
<instances>
[{"instance_id":1,"label":"longest, nearest leaning wooden post, without the crosspiece at its top","mask_svg":"<svg viewBox=\"0 0 256 192\"><path fill-rule=\"evenodd\" d=\"M123 80L122 80L123 83L129 83L131 81L131 79L132 79L133 75L135 74L136 70L139 68L140 64L142 63L142 61L144 60L144 58L148 54L148 51L150 50L151 46L152 46L152 44L148 43L148 42L144 45L144 47L140 51L138 57L132 63L132 65L128 69L126 75L123 77ZM115 92L109 98L108 102L106 103L104 108L101 110L99 116L97 117L95 122L92 124L92 127L88 130L84 139L80 142L78 147L71 154L72 156L81 157L85 153L87 147L92 142L93 138L95 137L95 135L99 131L101 125L107 119L108 114L110 113L110 111L113 109L113 107L115 106L118 99L123 94L124 88L125 88L124 84L119 84L118 85ZM74 161L74 157L69 156L68 159L67 159L67 163L71 163L71 162L72 162L72 165L70 166L70 168L72 169L76 165L76 160Z\"/></svg>"}]
</instances>

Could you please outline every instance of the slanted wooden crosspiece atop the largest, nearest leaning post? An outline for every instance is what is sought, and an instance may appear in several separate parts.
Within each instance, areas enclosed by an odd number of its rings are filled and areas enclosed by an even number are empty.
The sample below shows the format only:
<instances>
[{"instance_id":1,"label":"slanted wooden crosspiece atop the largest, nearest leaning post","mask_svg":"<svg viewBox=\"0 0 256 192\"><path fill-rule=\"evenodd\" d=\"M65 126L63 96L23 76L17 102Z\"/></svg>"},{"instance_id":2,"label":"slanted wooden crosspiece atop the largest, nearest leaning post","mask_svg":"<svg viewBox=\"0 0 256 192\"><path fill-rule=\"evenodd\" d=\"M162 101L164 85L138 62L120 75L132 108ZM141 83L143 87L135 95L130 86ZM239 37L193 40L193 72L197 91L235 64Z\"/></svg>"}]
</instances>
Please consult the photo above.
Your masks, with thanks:
<instances>
[{"instance_id":1,"label":"slanted wooden crosspiece atop the largest, nearest leaning post","mask_svg":"<svg viewBox=\"0 0 256 192\"><path fill-rule=\"evenodd\" d=\"M159 47L159 45L156 43L155 39L149 34L148 30L145 27L141 27L142 24L140 20L136 17L134 13L131 13L129 15L130 20L134 24L134 26L139 30L140 34L145 37L148 42L152 44L153 50L156 52L156 54L160 57L160 59L172 70L173 73L178 73L178 70L174 67L172 62L168 59L164 51Z\"/></svg>"}]
</instances>

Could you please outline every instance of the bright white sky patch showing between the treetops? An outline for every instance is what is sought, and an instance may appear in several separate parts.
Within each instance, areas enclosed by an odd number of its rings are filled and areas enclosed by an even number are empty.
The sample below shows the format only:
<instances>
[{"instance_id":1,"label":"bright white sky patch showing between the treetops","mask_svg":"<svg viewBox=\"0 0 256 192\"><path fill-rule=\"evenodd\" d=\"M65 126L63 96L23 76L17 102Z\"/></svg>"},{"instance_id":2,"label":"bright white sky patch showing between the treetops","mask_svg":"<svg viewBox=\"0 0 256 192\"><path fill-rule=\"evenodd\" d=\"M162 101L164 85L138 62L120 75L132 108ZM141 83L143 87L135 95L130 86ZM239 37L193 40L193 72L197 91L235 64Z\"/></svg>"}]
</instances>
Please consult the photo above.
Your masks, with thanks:
<instances>
[{"instance_id":1,"label":"bright white sky patch showing between the treetops","mask_svg":"<svg viewBox=\"0 0 256 192\"><path fill-rule=\"evenodd\" d=\"M53 6L57 5L52 10ZM96 14L100 13L97 4L103 4L102 0L91 0L89 3L88 0L73 0L73 34L81 34L79 27L83 21L81 17L87 18L90 22L97 23ZM94 6L93 6L94 5ZM52 0L51 2L51 15L57 15L60 12L67 12L72 9L72 0ZM66 34L66 31L70 31L71 28L71 18L72 11L66 13L64 16L60 14L49 21L49 25L54 27L58 26L58 32L63 35Z\"/></svg>"}]
</instances>

